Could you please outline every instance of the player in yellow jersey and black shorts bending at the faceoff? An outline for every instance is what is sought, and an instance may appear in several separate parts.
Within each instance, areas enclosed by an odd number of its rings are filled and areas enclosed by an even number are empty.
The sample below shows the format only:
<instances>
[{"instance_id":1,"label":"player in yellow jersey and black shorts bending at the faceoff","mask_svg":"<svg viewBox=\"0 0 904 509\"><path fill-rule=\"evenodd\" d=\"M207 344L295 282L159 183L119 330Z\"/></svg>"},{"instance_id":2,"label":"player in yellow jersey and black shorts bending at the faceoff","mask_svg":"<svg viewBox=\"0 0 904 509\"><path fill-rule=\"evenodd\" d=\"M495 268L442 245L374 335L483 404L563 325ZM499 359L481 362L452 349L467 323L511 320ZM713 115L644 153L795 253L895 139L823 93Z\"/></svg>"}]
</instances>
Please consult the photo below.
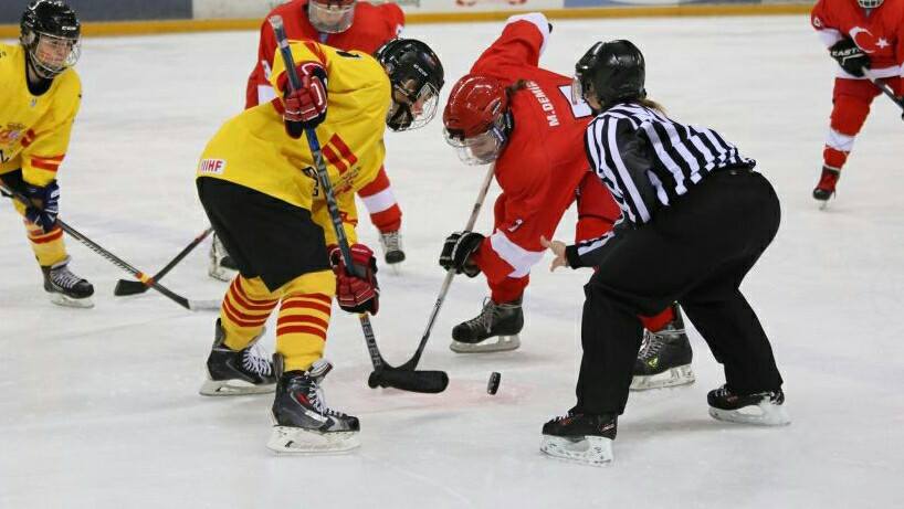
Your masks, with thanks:
<instances>
[{"instance_id":1,"label":"player in yellow jersey and black shorts bending at the faceoff","mask_svg":"<svg viewBox=\"0 0 904 509\"><path fill-rule=\"evenodd\" d=\"M377 178L386 125L419 127L437 110L443 71L427 44L397 39L378 52L293 42L302 88L290 92L273 64L274 98L228 120L197 171L211 225L239 266L217 320L201 394L276 395L269 447L346 450L358 445L356 417L329 409L320 383L333 296L349 312L376 314L376 259L357 243L355 193ZM388 77L387 77L388 76ZM362 277L347 272L303 128L316 127L329 179ZM278 307L276 369L254 348ZM275 372L274 372L275 371Z\"/></svg>"}]
</instances>

